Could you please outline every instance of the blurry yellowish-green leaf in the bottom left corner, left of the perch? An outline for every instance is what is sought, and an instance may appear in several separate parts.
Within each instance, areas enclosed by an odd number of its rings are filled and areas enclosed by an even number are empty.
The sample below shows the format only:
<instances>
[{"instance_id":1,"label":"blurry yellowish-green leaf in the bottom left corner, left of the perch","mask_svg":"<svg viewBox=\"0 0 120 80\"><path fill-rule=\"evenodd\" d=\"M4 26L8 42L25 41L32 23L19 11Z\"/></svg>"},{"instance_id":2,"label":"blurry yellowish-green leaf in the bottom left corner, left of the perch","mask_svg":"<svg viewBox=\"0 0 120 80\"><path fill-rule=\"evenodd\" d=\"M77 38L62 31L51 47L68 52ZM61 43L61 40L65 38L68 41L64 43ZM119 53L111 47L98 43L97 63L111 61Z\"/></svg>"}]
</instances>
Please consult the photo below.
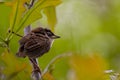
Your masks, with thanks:
<instances>
[{"instance_id":1,"label":"blurry yellowish-green leaf in the bottom left corner, left of the perch","mask_svg":"<svg viewBox=\"0 0 120 80\"><path fill-rule=\"evenodd\" d=\"M19 76L21 78L24 77L26 80L30 80L27 78L30 77L32 67L27 61L20 61L15 57L15 54L6 51L0 55L0 61L4 63L2 66L4 68L1 73L5 74L5 78L7 78L5 80L22 80L19 79Z\"/></svg>"}]
</instances>

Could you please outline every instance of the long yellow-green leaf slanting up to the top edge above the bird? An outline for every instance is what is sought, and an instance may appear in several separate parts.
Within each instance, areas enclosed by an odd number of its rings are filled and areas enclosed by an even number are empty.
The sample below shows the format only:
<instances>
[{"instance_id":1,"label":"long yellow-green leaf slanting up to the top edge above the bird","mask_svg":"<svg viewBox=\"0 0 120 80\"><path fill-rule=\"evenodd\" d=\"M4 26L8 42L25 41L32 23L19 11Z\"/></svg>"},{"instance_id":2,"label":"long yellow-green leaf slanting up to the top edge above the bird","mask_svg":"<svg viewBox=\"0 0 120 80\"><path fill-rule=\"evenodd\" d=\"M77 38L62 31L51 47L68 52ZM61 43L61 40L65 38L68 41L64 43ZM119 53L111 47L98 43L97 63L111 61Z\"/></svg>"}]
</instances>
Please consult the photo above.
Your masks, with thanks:
<instances>
[{"instance_id":1,"label":"long yellow-green leaf slanting up to the top edge above the bird","mask_svg":"<svg viewBox=\"0 0 120 80\"><path fill-rule=\"evenodd\" d=\"M39 0L24 16L19 25L17 31L19 31L22 27L26 27L33 23L34 21L40 19L42 16L40 11L43 8L56 6L61 3L61 0ZM17 32L16 31L16 32Z\"/></svg>"}]
</instances>

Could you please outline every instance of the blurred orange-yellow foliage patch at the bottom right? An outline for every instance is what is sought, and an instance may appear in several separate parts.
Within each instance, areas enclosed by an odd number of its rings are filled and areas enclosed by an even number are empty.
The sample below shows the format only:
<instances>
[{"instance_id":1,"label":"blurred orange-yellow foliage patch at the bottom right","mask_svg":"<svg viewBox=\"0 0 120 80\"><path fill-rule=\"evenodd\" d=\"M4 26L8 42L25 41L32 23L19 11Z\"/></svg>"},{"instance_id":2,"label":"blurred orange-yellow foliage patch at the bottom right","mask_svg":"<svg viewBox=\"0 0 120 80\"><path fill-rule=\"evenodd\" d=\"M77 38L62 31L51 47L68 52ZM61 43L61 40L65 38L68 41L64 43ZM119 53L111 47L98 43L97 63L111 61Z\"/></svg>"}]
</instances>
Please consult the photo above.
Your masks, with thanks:
<instances>
[{"instance_id":1,"label":"blurred orange-yellow foliage patch at the bottom right","mask_svg":"<svg viewBox=\"0 0 120 80\"><path fill-rule=\"evenodd\" d=\"M99 55L78 56L70 58L70 66L76 79L72 80L105 80L104 71L107 69L105 60Z\"/></svg>"}]
</instances>

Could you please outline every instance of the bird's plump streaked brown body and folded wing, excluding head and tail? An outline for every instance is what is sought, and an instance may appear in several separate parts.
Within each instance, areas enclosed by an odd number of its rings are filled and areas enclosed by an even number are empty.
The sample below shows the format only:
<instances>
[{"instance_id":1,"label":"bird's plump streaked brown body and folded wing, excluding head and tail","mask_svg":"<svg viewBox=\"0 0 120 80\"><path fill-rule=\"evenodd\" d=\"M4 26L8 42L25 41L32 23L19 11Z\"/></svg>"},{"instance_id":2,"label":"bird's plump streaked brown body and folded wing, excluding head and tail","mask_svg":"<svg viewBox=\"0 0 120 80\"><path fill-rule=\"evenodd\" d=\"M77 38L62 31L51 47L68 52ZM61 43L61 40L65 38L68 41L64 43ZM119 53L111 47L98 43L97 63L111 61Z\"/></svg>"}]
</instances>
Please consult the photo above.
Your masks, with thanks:
<instances>
[{"instance_id":1,"label":"bird's plump streaked brown body and folded wing, excluding head and tail","mask_svg":"<svg viewBox=\"0 0 120 80\"><path fill-rule=\"evenodd\" d=\"M24 52L31 58L47 53L52 47L53 39L41 35L31 37L24 45Z\"/></svg>"}]
</instances>

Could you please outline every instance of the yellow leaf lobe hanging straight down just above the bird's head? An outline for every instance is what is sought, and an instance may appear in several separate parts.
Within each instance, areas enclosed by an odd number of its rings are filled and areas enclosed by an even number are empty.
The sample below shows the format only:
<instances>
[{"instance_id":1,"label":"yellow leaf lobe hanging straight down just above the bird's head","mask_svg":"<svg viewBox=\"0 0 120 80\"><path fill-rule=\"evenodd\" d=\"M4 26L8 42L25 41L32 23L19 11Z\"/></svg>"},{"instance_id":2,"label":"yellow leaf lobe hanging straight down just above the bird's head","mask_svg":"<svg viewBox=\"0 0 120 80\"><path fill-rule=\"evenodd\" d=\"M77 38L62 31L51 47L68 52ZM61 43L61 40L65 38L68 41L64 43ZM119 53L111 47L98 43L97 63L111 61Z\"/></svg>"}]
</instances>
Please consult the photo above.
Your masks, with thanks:
<instances>
[{"instance_id":1,"label":"yellow leaf lobe hanging straight down just above the bird's head","mask_svg":"<svg viewBox=\"0 0 120 80\"><path fill-rule=\"evenodd\" d=\"M54 31L54 27L57 23L55 6L50 6L50 7L45 8L44 12L47 16L47 21L48 21L48 24L49 24L51 30Z\"/></svg>"}]
</instances>

